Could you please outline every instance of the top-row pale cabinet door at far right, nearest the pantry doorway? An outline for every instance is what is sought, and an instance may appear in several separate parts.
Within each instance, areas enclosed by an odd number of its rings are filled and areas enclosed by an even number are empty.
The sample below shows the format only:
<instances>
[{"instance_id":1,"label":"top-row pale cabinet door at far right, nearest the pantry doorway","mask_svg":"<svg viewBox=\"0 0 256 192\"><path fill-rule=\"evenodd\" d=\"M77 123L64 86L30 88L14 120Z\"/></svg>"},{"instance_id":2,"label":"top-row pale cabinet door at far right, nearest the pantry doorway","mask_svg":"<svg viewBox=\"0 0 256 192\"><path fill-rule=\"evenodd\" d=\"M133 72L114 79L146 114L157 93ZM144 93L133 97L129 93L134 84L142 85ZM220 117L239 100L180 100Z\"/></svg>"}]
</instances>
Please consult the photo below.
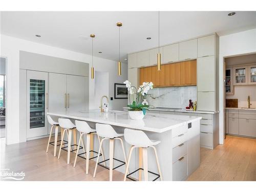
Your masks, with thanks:
<instances>
[{"instance_id":1,"label":"top-row pale cabinet door at far right, nearest the pantry doorway","mask_svg":"<svg viewBox=\"0 0 256 192\"><path fill-rule=\"evenodd\" d=\"M198 57L215 55L215 35L198 38Z\"/></svg>"}]
</instances>

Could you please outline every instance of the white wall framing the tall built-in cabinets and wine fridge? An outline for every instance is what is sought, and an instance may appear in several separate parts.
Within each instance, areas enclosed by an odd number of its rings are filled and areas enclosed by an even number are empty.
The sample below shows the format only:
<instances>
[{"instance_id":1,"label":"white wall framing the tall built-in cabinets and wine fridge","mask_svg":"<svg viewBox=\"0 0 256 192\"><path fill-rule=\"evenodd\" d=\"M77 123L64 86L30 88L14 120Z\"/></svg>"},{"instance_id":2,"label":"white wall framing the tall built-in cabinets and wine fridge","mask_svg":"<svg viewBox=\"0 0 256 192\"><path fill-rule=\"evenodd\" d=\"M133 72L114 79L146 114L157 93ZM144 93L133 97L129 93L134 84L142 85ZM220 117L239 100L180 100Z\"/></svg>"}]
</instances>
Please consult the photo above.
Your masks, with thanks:
<instances>
[{"instance_id":1,"label":"white wall framing the tall built-in cabinets and wine fridge","mask_svg":"<svg viewBox=\"0 0 256 192\"><path fill-rule=\"evenodd\" d=\"M53 57L65 58L90 63L91 55L77 53L65 49L51 47L19 38L1 35L1 56L7 57L7 144L19 142L19 51L27 51ZM94 57L95 71L109 72L109 97L114 98L114 83L122 83L127 79L127 65L122 64L122 76L117 74L117 62ZM94 81L89 83L89 108L98 108L94 101ZM111 102L110 108L122 109L127 104L126 99L116 99Z\"/></svg>"}]
</instances>

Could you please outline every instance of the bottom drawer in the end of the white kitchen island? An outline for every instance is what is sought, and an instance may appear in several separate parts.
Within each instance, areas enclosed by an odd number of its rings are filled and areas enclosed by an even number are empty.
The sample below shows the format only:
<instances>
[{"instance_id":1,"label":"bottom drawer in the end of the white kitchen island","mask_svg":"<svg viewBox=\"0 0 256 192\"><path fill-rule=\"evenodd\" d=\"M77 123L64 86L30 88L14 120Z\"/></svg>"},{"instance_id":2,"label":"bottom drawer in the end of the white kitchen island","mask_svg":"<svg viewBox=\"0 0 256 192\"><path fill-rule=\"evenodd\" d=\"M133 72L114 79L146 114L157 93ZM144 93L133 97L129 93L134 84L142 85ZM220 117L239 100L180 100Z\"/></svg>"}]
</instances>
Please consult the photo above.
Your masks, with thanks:
<instances>
[{"instance_id":1,"label":"bottom drawer in the end of the white kitchen island","mask_svg":"<svg viewBox=\"0 0 256 192\"><path fill-rule=\"evenodd\" d=\"M187 155L173 163L173 181L183 181L187 177Z\"/></svg>"}]
</instances>

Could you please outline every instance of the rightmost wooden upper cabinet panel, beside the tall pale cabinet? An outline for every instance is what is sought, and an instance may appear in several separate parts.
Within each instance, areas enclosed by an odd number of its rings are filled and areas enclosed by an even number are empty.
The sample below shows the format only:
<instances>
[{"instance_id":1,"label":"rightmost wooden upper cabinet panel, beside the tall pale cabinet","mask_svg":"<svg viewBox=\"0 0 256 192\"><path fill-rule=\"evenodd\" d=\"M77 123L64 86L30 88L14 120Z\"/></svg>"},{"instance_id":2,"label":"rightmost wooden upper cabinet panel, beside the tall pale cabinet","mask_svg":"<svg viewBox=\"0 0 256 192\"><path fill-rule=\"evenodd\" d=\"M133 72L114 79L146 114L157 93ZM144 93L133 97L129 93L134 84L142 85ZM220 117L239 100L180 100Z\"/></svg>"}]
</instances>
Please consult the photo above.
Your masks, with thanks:
<instances>
[{"instance_id":1,"label":"rightmost wooden upper cabinet panel, beside the tall pale cabinet","mask_svg":"<svg viewBox=\"0 0 256 192\"><path fill-rule=\"evenodd\" d=\"M197 61L180 62L180 83L197 84Z\"/></svg>"}]
</instances>

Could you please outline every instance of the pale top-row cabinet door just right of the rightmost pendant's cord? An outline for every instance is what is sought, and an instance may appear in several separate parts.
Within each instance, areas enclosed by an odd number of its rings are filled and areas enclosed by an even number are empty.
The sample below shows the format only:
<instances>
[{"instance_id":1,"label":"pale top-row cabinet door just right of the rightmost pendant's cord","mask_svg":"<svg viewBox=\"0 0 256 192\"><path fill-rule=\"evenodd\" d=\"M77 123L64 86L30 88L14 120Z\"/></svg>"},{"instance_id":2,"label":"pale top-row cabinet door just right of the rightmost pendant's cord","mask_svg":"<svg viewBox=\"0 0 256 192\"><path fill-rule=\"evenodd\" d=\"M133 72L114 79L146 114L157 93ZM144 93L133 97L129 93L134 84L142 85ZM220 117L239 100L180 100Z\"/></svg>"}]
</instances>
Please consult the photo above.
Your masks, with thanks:
<instances>
[{"instance_id":1,"label":"pale top-row cabinet door just right of the rightmost pendant's cord","mask_svg":"<svg viewBox=\"0 0 256 192\"><path fill-rule=\"evenodd\" d=\"M179 44L173 44L163 47L163 63L179 60Z\"/></svg>"}]
</instances>

